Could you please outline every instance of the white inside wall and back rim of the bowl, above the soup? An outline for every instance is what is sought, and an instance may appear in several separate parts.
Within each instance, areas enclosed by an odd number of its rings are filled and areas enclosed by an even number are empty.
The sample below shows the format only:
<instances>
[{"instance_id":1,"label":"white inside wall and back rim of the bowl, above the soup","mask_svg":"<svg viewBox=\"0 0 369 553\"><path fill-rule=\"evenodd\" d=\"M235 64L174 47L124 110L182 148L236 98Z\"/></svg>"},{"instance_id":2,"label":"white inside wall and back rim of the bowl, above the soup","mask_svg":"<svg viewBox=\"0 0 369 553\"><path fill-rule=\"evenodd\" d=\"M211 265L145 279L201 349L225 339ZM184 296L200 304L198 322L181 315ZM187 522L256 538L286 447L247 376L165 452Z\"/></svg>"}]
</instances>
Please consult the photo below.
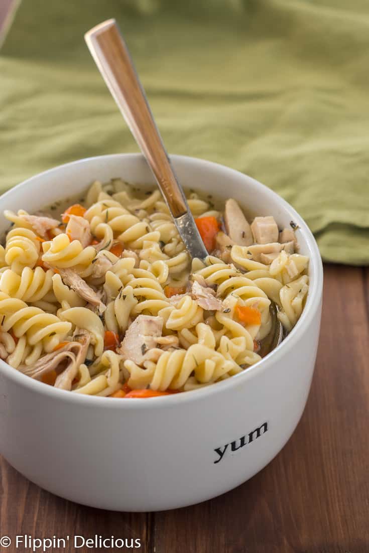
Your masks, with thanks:
<instances>
[{"instance_id":1,"label":"white inside wall and back rim of the bowl, above the soup","mask_svg":"<svg viewBox=\"0 0 369 553\"><path fill-rule=\"evenodd\" d=\"M319 249L310 229L287 202L256 180L210 161L179 155L173 155L170 158L176 175L184 187L212 194L219 199L225 200L234 197L240 202L247 215L273 215L280 228L289 227L291 221L298 225L299 251L310 258L310 285L303 314L292 333L286 338L289 341L297 328L304 325L309 311L314 311L321 297L323 268ZM33 213L56 200L87 190L94 180L105 182L112 178L122 178L134 185L154 184L155 182L141 154L106 155L61 165L24 181L0 196L0 234L3 235L9 228L9 222L2 215L5 209L17 211L23 208ZM283 347L286 340L277 349ZM0 362L0 366L4 367L6 363ZM17 373L14 369L12 372L14 375ZM17 373L16 378L18 377L23 377L23 375ZM27 380L30 379L27 378ZM33 384L35 383L33 382ZM196 392L198 390L192 393ZM102 400L102 398L98 399Z\"/></svg>"}]
</instances>

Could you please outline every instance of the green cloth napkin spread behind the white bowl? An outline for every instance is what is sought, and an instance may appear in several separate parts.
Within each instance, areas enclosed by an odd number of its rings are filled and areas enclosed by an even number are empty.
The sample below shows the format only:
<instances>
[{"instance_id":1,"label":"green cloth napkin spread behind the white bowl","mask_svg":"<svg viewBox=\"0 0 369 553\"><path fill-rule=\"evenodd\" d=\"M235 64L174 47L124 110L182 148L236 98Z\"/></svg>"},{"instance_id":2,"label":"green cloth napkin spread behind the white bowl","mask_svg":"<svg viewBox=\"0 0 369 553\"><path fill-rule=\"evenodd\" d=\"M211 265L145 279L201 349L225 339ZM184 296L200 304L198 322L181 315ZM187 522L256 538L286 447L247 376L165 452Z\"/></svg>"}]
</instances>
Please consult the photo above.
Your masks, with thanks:
<instances>
[{"instance_id":1,"label":"green cloth napkin spread behind the white bowl","mask_svg":"<svg viewBox=\"0 0 369 553\"><path fill-rule=\"evenodd\" d=\"M0 53L1 190L137 151L84 41L110 17L169 152L262 181L325 260L369 264L367 0L23 0Z\"/></svg>"}]
</instances>

